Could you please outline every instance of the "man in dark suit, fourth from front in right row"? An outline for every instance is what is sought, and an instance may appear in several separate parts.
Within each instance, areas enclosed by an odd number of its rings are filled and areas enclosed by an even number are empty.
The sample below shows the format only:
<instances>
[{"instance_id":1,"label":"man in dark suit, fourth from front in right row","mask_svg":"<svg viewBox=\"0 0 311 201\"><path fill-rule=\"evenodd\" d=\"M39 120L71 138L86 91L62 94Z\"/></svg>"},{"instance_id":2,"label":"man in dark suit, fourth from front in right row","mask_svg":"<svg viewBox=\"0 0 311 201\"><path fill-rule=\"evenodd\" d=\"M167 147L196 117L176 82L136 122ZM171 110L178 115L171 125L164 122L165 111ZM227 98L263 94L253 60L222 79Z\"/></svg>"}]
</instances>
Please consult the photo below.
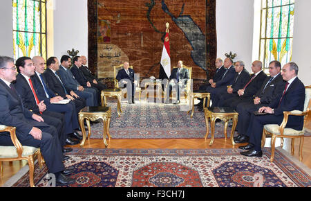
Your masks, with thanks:
<instances>
[{"instance_id":1,"label":"man in dark suit, fourth from front in right row","mask_svg":"<svg viewBox=\"0 0 311 201\"><path fill-rule=\"evenodd\" d=\"M243 61L237 61L234 65L234 69L236 70L236 74L234 76L234 83L231 87L222 86L217 89L215 92L212 102L213 107L221 107L220 100L226 100L228 98L238 96L238 89L241 89L245 86L247 80L249 80L249 73L244 68L245 64Z\"/></svg>"}]
</instances>

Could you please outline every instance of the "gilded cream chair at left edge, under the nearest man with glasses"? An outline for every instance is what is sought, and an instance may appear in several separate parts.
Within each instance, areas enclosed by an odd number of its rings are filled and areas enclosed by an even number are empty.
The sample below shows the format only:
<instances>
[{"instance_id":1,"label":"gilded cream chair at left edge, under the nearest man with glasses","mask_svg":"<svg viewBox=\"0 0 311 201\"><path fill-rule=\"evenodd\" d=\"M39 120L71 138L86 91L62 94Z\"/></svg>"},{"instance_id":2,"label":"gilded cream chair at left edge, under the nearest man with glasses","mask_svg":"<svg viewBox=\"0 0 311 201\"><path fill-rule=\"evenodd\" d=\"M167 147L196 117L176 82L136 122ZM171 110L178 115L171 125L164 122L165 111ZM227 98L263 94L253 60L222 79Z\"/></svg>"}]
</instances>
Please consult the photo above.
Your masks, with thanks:
<instances>
[{"instance_id":1,"label":"gilded cream chair at left edge, under the nearest man with glasses","mask_svg":"<svg viewBox=\"0 0 311 201\"><path fill-rule=\"evenodd\" d=\"M31 146L21 146L21 143L16 137L16 128L6 125L0 125L1 132L9 132L10 137L14 146L0 146L0 177L3 174L3 164L2 161L19 161L27 160L29 166L29 182L31 187L35 187L33 182L33 172L34 172L34 157L37 155L39 166L41 168L43 164L43 159L41 157L40 148L35 148Z\"/></svg>"}]
</instances>

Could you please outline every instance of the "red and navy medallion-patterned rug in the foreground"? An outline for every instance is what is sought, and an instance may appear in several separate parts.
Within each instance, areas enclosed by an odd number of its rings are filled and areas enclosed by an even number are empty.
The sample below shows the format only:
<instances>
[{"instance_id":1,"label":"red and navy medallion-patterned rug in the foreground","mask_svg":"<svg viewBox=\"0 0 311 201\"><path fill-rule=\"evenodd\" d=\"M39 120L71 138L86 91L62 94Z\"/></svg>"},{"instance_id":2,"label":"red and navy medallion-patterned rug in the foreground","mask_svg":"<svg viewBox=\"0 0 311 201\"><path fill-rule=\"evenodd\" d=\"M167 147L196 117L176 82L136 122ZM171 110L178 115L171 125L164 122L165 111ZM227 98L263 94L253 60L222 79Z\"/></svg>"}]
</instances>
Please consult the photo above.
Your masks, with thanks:
<instances>
[{"instance_id":1,"label":"red and navy medallion-patterned rug in the foreground","mask_svg":"<svg viewBox=\"0 0 311 201\"><path fill-rule=\"evenodd\" d=\"M311 186L311 171L281 148L270 162L244 157L237 149L149 150L81 149L68 154L73 166L70 187L199 187L199 186ZM47 169L35 165L36 186L47 186ZM5 186L8 186L5 184ZM10 186L29 186L28 172ZM69 187L69 186L68 186Z\"/></svg>"}]
</instances>

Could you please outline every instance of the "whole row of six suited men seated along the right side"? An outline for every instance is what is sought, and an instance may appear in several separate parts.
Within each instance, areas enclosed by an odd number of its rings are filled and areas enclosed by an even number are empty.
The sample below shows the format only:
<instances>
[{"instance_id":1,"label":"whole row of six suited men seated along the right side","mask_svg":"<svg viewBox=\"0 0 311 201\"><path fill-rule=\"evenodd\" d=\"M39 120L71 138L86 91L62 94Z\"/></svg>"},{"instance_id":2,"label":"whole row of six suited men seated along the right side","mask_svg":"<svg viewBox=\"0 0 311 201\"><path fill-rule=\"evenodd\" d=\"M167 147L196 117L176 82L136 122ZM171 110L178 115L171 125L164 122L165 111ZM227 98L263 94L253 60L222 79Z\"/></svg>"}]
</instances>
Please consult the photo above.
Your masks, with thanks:
<instances>
[{"instance_id":1,"label":"whole row of six suited men seated along the right side","mask_svg":"<svg viewBox=\"0 0 311 201\"><path fill-rule=\"evenodd\" d=\"M263 125L281 125L284 111L303 111L305 86L297 78L299 68L290 62L281 69L279 61L272 61L270 76L267 76L262 70L262 62L254 61L253 74L249 75L244 62L233 65L230 58L226 58L224 64L221 59L216 59L216 67L214 78L208 85L200 86L200 90L211 94L211 107L232 107L238 112L238 136L234 141L248 142L239 147L247 150L241 152L242 155L261 157ZM227 87L229 85L231 87ZM256 116L255 111L269 115ZM302 130L303 116L290 116L286 128Z\"/></svg>"}]
</instances>

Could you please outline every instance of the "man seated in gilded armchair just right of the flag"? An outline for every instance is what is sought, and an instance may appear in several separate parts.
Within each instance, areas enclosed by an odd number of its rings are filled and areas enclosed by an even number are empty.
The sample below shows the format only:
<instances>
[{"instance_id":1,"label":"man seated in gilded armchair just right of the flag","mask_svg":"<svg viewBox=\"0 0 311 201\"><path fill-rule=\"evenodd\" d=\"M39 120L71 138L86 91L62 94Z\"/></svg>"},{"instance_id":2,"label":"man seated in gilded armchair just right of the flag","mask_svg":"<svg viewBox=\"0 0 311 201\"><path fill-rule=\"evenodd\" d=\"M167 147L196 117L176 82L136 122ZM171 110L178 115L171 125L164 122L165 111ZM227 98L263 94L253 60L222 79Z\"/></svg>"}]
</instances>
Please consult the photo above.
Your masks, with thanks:
<instances>
[{"instance_id":1,"label":"man seated in gilded armchair just right of the flag","mask_svg":"<svg viewBox=\"0 0 311 201\"><path fill-rule=\"evenodd\" d=\"M177 100L173 104L180 103L180 89L185 89L189 80L189 71L182 66L183 62L182 60L179 60L177 62L177 68L173 68L171 71L171 76L169 76L169 94L171 94L173 87L177 88ZM169 96L165 102L169 103Z\"/></svg>"}]
</instances>

